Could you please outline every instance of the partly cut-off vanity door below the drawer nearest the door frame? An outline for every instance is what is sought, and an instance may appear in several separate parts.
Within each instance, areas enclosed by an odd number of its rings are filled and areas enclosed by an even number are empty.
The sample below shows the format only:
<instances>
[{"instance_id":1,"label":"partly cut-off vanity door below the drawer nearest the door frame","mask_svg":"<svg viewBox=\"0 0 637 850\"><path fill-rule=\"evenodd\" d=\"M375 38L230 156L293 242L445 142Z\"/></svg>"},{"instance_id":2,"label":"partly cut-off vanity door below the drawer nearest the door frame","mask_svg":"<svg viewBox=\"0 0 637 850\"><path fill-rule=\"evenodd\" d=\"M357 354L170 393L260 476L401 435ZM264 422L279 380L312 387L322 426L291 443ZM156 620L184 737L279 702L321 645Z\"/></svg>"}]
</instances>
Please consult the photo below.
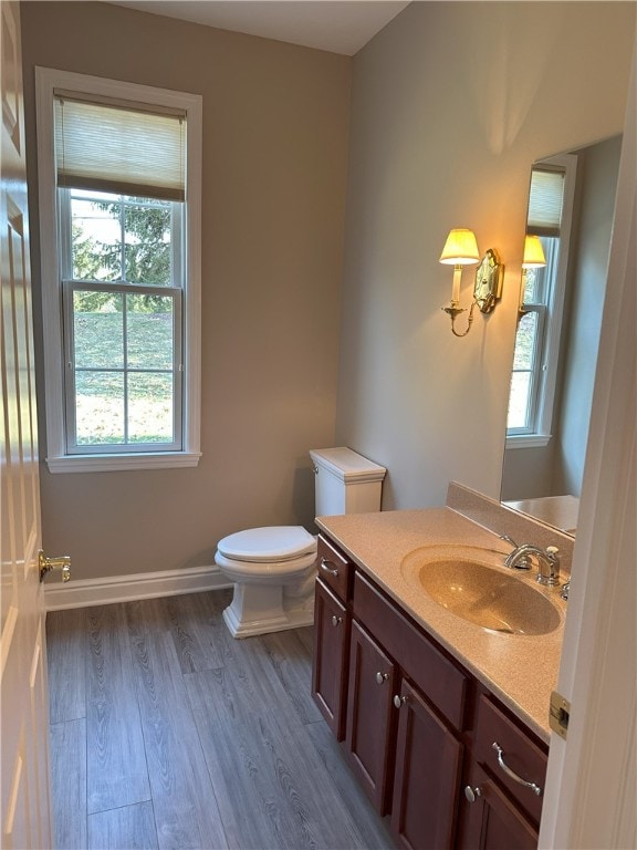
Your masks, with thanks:
<instances>
[{"instance_id":1,"label":"partly cut-off vanity door below the drawer nearest the door frame","mask_svg":"<svg viewBox=\"0 0 637 850\"><path fill-rule=\"evenodd\" d=\"M536 850L537 832L532 823L477 764L471 767L468 788L474 801L463 799L461 850Z\"/></svg>"}]
</instances>

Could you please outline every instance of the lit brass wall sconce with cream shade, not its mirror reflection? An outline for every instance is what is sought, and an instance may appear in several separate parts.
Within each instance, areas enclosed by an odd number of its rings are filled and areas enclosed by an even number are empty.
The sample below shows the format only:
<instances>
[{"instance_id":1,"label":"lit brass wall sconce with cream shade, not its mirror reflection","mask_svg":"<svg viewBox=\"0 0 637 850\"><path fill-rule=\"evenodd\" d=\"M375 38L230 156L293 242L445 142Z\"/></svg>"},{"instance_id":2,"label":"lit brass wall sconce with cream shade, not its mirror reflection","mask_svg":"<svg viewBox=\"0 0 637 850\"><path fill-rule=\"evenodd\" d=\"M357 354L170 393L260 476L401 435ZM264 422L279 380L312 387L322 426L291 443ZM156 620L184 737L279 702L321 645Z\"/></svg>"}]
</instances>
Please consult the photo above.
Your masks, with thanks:
<instances>
[{"instance_id":1,"label":"lit brass wall sconce with cream shade, not its mirror reflection","mask_svg":"<svg viewBox=\"0 0 637 850\"><path fill-rule=\"evenodd\" d=\"M480 312L490 313L495 307L495 301L502 293L502 276L504 267L498 259L498 255L489 248L482 260L478 252L476 235L466 228L455 228L449 232L445 248L440 255L440 262L453 266L453 286L451 289L451 304L441 308L451 317L451 333L456 336L467 336L473 322L473 310L478 305ZM473 284L473 301L469 309L467 330L458 333L456 319L460 313L467 312L467 308L460 307L460 278L463 266L474 266L479 262Z\"/></svg>"}]
</instances>

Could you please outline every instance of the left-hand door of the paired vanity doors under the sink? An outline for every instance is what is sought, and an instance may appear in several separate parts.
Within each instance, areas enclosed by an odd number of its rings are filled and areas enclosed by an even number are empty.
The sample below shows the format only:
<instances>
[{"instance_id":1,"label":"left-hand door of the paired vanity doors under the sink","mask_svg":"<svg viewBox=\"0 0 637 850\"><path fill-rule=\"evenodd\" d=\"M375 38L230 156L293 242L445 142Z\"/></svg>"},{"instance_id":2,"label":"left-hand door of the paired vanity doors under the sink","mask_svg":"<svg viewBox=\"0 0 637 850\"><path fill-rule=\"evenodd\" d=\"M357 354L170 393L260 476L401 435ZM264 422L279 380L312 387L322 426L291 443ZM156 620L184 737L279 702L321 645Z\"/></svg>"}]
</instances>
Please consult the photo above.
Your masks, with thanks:
<instances>
[{"instance_id":1,"label":"left-hand door of the paired vanity doors under the sink","mask_svg":"<svg viewBox=\"0 0 637 850\"><path fill-rule=\"evenodd\" d=\"M353 620L346 751L354 774L380 815L387 810L395 680L389 657Z\"/></svg>"}]
</instances>

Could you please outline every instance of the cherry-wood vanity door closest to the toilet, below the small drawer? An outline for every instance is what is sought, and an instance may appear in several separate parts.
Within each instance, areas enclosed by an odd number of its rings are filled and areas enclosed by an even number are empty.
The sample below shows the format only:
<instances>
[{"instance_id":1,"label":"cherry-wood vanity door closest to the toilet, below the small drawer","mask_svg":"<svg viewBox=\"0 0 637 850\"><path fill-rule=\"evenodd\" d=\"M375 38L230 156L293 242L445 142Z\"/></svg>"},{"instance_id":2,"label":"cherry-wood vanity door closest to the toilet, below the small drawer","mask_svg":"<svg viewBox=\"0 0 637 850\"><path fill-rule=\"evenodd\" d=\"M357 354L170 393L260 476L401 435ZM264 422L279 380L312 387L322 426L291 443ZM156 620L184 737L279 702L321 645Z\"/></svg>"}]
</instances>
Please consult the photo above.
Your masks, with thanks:
<instances>
[{"instance_id":1,"label":"cherry-wood vanity door closest to the toilet, below the small drawer","mask_svg":"<svg viewBox=\"0 0 637 850\"><path fill-rule=\"evenodd\" d=\"M314 595L314 662L312 693L323 717L336 736L345 736L347 694L348 613L323 582Z\"/></svg>"}]
</instances>

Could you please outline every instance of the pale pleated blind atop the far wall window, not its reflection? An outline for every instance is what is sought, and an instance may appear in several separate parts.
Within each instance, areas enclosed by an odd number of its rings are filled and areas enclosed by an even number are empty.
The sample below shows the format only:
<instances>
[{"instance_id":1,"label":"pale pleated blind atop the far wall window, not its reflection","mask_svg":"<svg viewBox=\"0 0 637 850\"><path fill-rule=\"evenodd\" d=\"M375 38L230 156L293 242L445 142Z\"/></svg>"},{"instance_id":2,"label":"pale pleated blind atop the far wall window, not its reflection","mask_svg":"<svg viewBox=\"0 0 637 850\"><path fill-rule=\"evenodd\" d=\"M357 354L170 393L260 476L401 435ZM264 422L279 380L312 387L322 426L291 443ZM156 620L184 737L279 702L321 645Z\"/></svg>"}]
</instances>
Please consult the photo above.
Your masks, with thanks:
<instances>
[{"instance_id":1,"label":"pale pleated blind atop the far wall window, not its reflection","mask_svg":"<svg viewBox=\"0 0 637 850\"><path fill-rule=\"evenodd\" d=\"M185 200L186 116L55 94L58 185Z\"/></svg>"}]
</instances>

